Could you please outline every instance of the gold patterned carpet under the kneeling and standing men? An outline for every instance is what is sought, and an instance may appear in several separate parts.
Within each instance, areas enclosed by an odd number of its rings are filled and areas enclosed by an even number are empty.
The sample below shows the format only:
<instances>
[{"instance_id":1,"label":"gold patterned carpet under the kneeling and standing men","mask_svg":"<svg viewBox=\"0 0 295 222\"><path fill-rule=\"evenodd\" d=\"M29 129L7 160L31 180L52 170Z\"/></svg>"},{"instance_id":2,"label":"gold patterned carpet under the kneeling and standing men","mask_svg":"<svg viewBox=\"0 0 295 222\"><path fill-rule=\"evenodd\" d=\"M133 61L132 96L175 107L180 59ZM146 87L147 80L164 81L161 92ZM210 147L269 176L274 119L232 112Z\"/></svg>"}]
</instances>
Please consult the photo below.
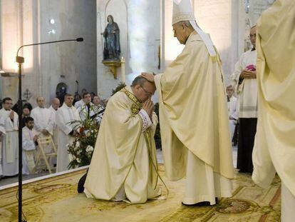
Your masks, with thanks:
<instances>
[{"instance_id":1,"label":"gold patterned carpet under the kneeling and standing men","mask_svg":"<svg viewBox=\"0 0 295 222\"><path fill-rule=\"evenodd\" d=\"M25 184L23 211L27 221L280 221L279 178L262 189L254 185L249 174L236 173L232 198L222 198L215 206L187 207L181 204L185 180L168 181L160 164L160 174L170 190L168 198L130 205L78 194L78 179L85 171ZM17 220L16 191L16 187L0 191L0 221Z\"/></svg>"}]
</instances>

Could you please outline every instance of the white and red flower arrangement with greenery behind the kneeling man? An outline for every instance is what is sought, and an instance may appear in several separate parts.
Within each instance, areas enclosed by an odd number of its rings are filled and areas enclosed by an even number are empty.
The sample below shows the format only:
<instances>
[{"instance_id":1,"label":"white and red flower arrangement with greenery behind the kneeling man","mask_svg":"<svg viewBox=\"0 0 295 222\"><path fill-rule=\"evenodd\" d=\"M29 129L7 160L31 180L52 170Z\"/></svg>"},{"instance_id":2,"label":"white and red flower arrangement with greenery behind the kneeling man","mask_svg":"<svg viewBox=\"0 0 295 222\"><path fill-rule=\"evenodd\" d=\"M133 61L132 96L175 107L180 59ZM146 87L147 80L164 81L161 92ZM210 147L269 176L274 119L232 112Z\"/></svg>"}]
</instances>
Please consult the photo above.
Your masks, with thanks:
<instances>
[{"instance_id":1,"label":"white and red flower arrangement with greenery behind the kneeling man","mask_svg":"<svg viewBox=\"0 0 295 222\"><path fill-rule=\"evenodd\" d=\"M92 158L99 124L91 118L86 118L85 121L73 121L71 124L76 124L76 126L73 142L67 144L70 158L68 168L87 166Z\"/></svg>"}]
</instances>

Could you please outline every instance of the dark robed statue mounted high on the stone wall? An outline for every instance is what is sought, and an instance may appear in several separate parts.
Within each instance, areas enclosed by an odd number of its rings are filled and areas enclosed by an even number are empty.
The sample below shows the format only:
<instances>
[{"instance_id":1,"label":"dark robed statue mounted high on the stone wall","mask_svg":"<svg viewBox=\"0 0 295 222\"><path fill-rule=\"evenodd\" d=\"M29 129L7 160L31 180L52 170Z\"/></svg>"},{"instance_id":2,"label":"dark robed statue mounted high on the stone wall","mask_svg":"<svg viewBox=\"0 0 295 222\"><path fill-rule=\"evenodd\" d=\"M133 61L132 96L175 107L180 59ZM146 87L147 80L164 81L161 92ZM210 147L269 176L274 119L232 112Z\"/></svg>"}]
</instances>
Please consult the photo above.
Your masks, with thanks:
<instances>
[{"instance_id":1,"label":"dark robed statue mounted high on the stone wall","mask_svg":"<svg viewBox=\"0 0 295 222\"><path fill-rule=\"evenodd\" d=\"M103 60L120 60L120 29L113 16L108 16L108 25L102 33L105 38Z\"/></svg>"}]
</instances>

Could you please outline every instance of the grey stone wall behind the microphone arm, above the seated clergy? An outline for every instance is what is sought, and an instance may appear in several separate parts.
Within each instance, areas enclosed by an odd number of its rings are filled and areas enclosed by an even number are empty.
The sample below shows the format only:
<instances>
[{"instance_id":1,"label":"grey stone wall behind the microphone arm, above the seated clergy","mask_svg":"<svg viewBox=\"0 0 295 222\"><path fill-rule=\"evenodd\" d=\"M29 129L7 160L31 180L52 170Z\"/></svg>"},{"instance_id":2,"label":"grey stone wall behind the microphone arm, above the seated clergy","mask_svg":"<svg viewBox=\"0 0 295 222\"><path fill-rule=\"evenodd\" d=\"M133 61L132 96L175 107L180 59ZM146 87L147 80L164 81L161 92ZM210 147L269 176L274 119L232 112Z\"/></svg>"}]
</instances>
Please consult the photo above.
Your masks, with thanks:
<instances>
[{"instance_id":1,"label":"grey stone wall behind the microphone arm, above the seated clergy","mask_svg":"<svg viewBox=\"0 0 295 222\"><path fill-rule=\"evenodd\" d=\"M22 44L60 39L84 41L29 46L20 51L25 58L23 91L29 89L32 104L37 96L46 102L55 96L56 85L64 81L68 92L86 88L96 92L95 0L2 0L2 55L5 71L14 70L16 49ZM55 24L50 24L54 19ZM49 34L54 29L56 34ZM16 78L5 78L3 96L16 100Z\"/></svg>"}]
</instances>

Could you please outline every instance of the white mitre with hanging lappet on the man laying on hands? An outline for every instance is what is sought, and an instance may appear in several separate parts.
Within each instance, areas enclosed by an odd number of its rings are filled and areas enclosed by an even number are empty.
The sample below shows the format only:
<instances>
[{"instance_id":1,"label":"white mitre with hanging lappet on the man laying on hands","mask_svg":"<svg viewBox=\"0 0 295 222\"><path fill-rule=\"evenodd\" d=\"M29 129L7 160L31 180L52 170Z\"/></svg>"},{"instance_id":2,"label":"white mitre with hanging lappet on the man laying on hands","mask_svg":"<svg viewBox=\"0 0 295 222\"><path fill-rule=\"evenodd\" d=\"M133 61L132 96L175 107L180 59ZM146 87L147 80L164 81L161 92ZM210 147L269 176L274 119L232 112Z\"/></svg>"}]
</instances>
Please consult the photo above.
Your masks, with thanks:
<instances>
[{"instance_id":1,"label":"white mitre with hanging lappet on the man laying on hands","mask_svg":"<svg viewBox=\"0 0 295 222\"><path fill-rule=\"evenodd\" d=\"M195 31L197 31L197 34L199 34L201 39L204 41L210 56L217 55L209 34L202 31L202 29L200 29L200 27L197 25L190 0L173 1L172 25L180 21L190 21L192 27L195 29Z\"/></svg>"}]
</instances>

